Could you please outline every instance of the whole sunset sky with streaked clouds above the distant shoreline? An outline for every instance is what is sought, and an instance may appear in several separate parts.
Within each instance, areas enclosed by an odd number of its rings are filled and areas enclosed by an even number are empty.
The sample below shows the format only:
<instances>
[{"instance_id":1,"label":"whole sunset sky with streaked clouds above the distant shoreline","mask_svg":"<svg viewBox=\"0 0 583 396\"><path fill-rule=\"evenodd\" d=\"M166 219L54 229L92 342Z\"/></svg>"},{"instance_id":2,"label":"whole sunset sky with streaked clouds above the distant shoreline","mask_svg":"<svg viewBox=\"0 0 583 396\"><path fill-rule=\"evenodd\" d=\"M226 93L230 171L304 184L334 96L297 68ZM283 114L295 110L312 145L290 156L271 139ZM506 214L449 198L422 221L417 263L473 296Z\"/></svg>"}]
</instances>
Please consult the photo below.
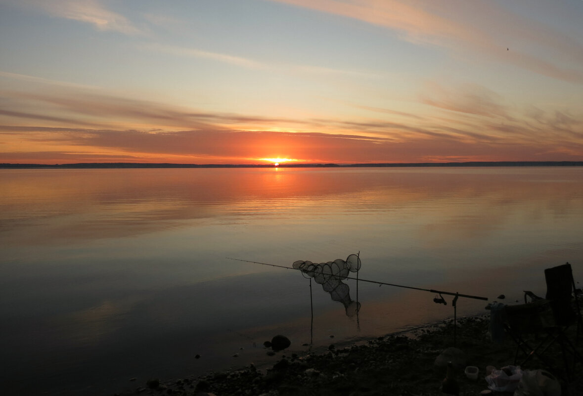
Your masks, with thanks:
<instances>
[{"instance_id":1,"label":"whole sunset sky with streaked clouds above the distant shoreline","mask_svg":"<svg viewBox=\"0 0 583 396\"><path fill-rule=\"evenodd\" d=\"M0 163L583 160L583 0L0 0Z\"/></svg>"}]
</instances>

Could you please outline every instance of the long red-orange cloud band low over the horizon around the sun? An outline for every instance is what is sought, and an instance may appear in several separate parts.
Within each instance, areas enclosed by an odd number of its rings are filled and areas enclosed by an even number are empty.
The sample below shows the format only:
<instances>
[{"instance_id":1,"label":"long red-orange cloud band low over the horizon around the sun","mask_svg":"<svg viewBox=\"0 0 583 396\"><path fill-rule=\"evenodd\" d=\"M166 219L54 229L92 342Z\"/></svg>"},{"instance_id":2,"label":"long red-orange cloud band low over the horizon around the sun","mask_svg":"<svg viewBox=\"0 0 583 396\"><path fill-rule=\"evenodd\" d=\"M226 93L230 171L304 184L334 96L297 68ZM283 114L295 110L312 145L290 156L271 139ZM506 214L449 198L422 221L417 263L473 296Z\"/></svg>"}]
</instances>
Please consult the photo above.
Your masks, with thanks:
<instances>
[{"instance_id":1,"label":"long red-orange cloud band low over the horizon around the sun","mask_svg":"<svg viewBox=\"0 0 583 396\"><path fill-rule=\"evenodd\" d=\"M491 126L490 126L491 127ZM581 160L583 144L547 141L515 143L505 138L488 142L463 138L417 136L406 139L371 138L365 135L332 135L274 131L197 130L149 132L114 129L0 127L2 135L19 140L55 145L62 142L69 154L79 147L80 158L96 162L127 157L132 161L182 163L261 163L259 158L282 155L309 162L374 163L444 160ZM93 154L94 153L94 154ZM462 154L461 154L462 153ZM40 155L37 155L40 156ZM11 158L18 155L12 154ZM26 158L26 155L22 157ZM34 156L33 156L34 157ZM42 157L42 156L40 156ZM47 155L46 158L51 157ZM154 159L154 160L152 160ZM80 162L68 155L55 162Z\"/></svg>"}]
</instances>

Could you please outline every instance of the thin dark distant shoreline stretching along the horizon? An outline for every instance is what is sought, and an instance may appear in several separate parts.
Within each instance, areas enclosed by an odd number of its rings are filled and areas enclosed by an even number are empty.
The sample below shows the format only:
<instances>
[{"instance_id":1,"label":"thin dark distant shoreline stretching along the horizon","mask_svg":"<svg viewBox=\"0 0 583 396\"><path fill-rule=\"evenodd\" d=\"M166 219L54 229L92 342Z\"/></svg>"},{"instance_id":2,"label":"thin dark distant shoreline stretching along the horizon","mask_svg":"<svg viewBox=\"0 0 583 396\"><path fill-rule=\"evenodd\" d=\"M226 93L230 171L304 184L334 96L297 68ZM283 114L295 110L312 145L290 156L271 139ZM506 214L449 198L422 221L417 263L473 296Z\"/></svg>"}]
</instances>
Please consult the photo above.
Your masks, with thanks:
<instances>
[{"instance_id":1,"label":"thin dark distant shoreline stretching along the horizon","mask_svg":"<svg viewBox=\"0 0 583 396\"><path fill-rule=\"evenodd\" d=\"M491 162L419 162L361 164L280 164L280 168L322 167L509 167L509 166L583 166L583 161L491 161ZM0 163L0 169L155 169L155 168L273 168L273 164L172 164L172 163L73 163L73 164L12 164Z\"/></svg>"}]
</instances>

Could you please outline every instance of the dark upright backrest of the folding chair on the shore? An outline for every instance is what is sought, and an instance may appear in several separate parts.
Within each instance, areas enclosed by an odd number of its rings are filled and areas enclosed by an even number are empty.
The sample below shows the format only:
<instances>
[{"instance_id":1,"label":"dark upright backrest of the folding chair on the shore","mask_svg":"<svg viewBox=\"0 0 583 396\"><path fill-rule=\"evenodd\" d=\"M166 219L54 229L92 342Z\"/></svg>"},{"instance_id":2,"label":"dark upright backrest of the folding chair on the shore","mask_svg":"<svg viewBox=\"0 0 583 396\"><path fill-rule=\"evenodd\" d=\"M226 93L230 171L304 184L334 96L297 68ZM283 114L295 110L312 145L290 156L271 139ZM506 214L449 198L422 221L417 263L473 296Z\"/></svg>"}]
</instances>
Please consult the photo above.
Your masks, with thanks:
<instances>
[{"instance_id":1,"label":"dark upright backrest of the folding chair on the shore","mask_svg":"<svg viewBox=\"0 0 583 396\"><path fill-rule=\"evenodd\" d=\"M553 309L556 324L560 326L573 324L575 312L571 306L571 293L574 291L571 264L545 269L545 280L546 299L549 300Z\"/></svg>"}]
</instances>

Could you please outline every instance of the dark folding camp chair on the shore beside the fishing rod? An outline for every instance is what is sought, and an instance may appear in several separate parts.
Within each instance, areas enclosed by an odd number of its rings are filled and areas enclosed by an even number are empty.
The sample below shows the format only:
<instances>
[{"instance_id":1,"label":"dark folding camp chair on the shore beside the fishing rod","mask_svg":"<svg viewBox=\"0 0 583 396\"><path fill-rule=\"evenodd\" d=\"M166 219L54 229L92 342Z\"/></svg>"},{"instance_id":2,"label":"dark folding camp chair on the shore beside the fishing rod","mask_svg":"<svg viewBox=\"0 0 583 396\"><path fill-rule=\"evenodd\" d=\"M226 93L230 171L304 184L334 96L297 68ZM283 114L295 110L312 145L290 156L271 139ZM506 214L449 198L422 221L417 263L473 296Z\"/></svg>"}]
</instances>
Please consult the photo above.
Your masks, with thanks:
<instances>
[{"instance_id":1,"label":"dark folding camp chair on the shore beside the fishing rod","mask_svg":"<svg viewBox=\"0 0 583 396\"><path fill-rule=\"evenodd\" d=\"M512 340L517 344L514 364L523 366L532 356L539 358L547 369L561 377L571 380L577 362L583 363L581 354L577 351L579 332L582 330L581 311L575 298L575 309L571 293L575 291L573 272L569 263L558 267L545 269L547 294L544 300L535 300L531 303L505 307L504 328ZM577 323L575 342L571 342L567 329ZM539 334L546 333L540 341ZM531 337L534 335L534 338ZM532 344L537 343L534 347ZM564 370L556 370L556 353L552 346L560 346L560 355L563 358ZM519 352L525 355L524 360L518 363ZM570 357L573 360L570 360ZM564 375L563 375L564 373Z\"/></svg>"}]
</instances>

